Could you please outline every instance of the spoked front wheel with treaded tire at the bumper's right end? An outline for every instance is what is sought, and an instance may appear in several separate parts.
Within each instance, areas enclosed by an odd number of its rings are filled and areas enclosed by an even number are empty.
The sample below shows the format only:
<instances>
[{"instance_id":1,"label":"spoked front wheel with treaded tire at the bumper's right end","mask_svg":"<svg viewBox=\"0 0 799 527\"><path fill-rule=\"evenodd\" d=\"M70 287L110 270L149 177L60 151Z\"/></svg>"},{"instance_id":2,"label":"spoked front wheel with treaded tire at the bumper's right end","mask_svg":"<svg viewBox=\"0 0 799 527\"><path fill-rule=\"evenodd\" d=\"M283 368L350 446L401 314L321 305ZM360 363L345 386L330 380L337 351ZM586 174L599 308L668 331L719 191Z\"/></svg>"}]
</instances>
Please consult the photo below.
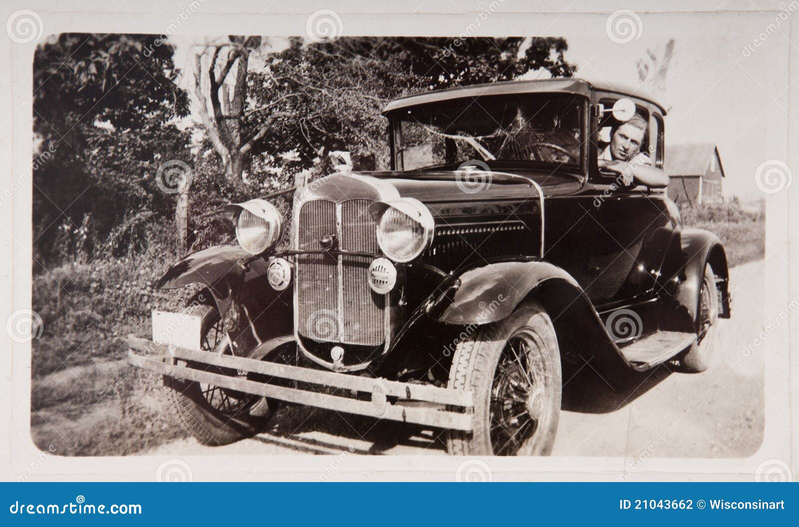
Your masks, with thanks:
<instances>
[{"instance_id":1,"label":"spoked front wheel with treaded tire at the bumper's right end","mask_svg":"<svg viewBox=\"0 0 799 527\"><path fill-rule=\"evenodd\" d=\"M561 403L555 327L537 302L458 344L449 387L475 394L474 429L450 430L453 455L549 455Z\"/></svg>"}]
</instances>

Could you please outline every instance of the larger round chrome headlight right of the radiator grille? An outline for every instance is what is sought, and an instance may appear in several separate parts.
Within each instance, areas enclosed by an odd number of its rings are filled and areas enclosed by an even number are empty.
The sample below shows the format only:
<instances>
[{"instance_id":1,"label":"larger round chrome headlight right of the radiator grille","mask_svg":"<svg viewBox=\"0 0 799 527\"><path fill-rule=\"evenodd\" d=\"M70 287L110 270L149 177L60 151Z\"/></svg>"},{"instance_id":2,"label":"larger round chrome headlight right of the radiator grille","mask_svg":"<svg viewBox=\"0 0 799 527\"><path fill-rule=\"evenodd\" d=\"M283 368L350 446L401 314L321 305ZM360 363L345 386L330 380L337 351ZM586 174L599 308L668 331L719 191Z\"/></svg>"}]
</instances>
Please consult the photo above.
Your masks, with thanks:
<instances>
[{"instance_id":1,"label":"larger round chrome headlight right of the radiator grille","mask_svg":"<svg viewBox=\"0 0 799 527\"><path fill-rule=\"evenodd\" d=\"M430 247L435 222L421 201L377 201L370 212L377 223L377 244L388 258L410 262Z\"/></svg>"}]
</instances>

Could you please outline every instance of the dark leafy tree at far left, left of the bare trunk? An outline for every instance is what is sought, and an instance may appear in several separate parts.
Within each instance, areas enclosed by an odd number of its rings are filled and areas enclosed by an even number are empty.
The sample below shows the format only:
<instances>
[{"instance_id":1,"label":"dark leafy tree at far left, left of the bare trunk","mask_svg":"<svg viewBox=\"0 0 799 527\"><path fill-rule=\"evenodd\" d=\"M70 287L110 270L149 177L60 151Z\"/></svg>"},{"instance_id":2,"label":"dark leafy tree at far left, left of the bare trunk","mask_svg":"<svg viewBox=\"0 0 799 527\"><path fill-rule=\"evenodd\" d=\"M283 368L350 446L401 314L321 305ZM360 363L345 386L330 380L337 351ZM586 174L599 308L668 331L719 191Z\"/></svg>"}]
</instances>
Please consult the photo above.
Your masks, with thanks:
<instances>
[{"instance_id":1,"label":"dark leafy tree at far left, left of the bare trunk","mask_svg":"<svg viewBox=\"0 0 799 527\"><path fill-rule=\"evenodd\" d=\"M189 134L175 123L189 99L172 57L151 35L61 34L36 50L34 133L41 152L54 152L34 164L38 261L60 226L74 232L90 219L104 244L141 208L169 208L153 175L163 160L190 160Z\"/></svg>"}]
</instances>

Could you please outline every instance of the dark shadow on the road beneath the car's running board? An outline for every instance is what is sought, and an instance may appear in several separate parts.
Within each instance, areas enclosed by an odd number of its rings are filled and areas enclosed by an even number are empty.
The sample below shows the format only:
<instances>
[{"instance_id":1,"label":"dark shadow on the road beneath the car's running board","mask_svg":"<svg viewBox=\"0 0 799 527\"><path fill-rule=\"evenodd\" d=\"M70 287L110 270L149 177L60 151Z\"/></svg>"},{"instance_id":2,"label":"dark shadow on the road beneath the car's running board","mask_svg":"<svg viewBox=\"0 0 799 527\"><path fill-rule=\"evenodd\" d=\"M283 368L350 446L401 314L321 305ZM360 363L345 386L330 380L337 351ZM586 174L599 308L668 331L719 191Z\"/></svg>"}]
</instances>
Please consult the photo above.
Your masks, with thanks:
<instances>
[{"instance_id":1,"label":"dark shadow on the road beneath the car's running board","mask_svg":"<svg viewBox=\"0 0 799 527\"><path fill-rule=\"evenodd\" d=\"M673 371L674 365L666 363L642 373L628 370L609 379L587 365L564 365L561 410L581 414L614 412L658 386Z\"/></svg>"}]
</instances>

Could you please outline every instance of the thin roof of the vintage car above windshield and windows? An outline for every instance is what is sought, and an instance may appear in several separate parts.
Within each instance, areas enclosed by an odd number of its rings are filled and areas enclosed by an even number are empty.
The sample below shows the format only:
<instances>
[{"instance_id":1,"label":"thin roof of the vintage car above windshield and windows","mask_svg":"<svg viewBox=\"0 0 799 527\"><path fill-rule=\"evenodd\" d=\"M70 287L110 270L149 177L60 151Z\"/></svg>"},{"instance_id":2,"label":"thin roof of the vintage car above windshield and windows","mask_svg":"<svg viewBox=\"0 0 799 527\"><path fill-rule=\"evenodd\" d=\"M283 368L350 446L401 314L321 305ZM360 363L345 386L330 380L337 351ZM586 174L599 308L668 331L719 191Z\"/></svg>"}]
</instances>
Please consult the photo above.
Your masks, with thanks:
<instances>
[{"instance_id":1,"label":"thin roof of the vintage car above windshield and windows","mask_svg":"<svg viewBox=\"0 0 799 527\"><path fill-rule=\"evenodd\" d=\"M646 93L634 86L621 84L610 84L603 81L586 81L575 77L558 77L552 79L539 79L535 81L502 81L490 82L471 86L459 86L457 88L438 89L434 91L417 93L407 97L400 97L388 103L383 109L383 113L393 112L396 109L407 108L416 105L425 105L431 102L451 101L462 97L481 97L483 95L508 95L516 93L575 93L590 97L591 90L618 93L627 97L636 97L658 106L661 113L666 115L666 109L654 101Z\"/></svg>"}]
</instances>

